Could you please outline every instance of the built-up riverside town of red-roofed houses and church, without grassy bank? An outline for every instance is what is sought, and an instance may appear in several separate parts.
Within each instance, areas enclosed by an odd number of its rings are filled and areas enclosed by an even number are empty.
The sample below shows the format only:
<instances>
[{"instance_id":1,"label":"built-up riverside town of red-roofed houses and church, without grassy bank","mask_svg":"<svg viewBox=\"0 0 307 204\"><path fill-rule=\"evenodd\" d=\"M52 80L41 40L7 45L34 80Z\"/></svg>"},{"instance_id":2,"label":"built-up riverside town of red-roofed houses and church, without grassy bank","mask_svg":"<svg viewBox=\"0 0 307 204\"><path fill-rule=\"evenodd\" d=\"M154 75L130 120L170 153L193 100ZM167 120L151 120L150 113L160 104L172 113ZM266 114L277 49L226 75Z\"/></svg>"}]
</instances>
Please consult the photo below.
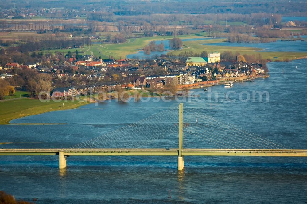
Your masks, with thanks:
<instances>
[{"instance_id":1,"label":"built-up riverside town of red-roofed houses and church, without grassy bank","mask_svg":"<svg viewBox=\"0 0 307 204\"><path fill-rule=\"evenodd\" d=\"M78 53L67 57L63 64L54 63L50 67L7 63L2 68L6 73L0 75L9 84L6 86L8 93L3 95L13 92L9 89L12 85L15 89L28 90L32 97L56 99L118 89L176 92L178 89L266 75L266 68L261 63L248 63L242 55L233 60L221 59L218 51L207 54L207 57L188 57L185 61L166 57L103 60L93 55L76 55ZM27 87L18 86L18 82L26 80L24 77L29 74L34 80Z\"/></svg>"}]
</instances>

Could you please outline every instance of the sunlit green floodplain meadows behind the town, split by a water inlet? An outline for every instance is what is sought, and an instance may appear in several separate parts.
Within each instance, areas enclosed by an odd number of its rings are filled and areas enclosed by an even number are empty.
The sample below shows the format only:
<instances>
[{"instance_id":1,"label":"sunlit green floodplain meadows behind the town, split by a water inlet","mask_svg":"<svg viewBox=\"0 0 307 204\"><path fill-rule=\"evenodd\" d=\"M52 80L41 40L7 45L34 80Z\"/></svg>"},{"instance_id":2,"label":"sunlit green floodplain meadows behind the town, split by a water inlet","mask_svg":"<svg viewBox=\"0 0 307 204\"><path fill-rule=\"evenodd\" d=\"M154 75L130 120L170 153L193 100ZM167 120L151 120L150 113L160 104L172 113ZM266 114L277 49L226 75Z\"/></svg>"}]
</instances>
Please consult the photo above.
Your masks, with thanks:
<instances>
[{"instance_id":1,"label":"sunlit green floodplain meadows behind the town, split by a water inlet","mask_svg":"<svg viewBox=\"0 0 307 204\"><path fill-rule=\"evenodd\" d=\"M181 39L188 39L188 38L205 38L205 33L197 33L197 34L190 34L190 35L181 35L177 36ZM131 38L128 39L126 43L119 43L119 44L93 44L90 47L83 47L78 48L78 51L83 51L84 54L91 54L95 55L96 57L101 56L103 59L108 59L109 56L113 56L115 59L125 58L128 54L133 54L138 52L142 47L147 45L150 41L153 40L170 40L173 36L153 36L153 37L142 37L142 38ZM271 59L272 61L275 60L293 60L298 58L305 58L307 57L307 52L256 52L261 49L255 47L232 47L232 46L217 46L217 45L210 45L210 43L219 43L225 42L226 38L216 38L216 39L208 39L208 40L193 40L193 41L185 41L183 42L183 49L170 51L174 54L178 54L182 51L192 51L194 53L201 53L202 51L232 51L232 52L239 52L241 54L248 54L253 55L255 53L261 54L264 59ZM206 45L203 45L206 43ZM57 51L67 53L68 51L74 52L76 49L59 49L59 50L48 50L44 52L52 52L55 53Z\"/></svg>"}]
</instances>

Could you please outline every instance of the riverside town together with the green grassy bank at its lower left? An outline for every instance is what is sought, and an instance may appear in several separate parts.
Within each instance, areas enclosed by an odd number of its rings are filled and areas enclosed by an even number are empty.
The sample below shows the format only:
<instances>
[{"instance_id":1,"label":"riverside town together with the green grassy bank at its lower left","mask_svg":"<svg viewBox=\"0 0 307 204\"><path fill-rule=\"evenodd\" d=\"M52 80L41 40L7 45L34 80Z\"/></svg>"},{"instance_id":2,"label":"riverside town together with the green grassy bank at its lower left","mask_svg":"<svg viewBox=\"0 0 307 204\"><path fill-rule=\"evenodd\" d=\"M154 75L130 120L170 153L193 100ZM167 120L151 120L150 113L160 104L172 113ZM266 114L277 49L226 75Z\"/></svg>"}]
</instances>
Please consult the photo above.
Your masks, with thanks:
<instances>
[{"instance_id":1,"label":"riverside town together with the green grassy bank at its lower left","mask_svg":"<svg viewBox=\"0 0 307 204\"><path fill-rule=\"evenodd\" d=\"M6 107L0 124L46 111L119 99L121 95L121 101L130 96L138 100L139 97L169 93L176 95L178 91L182 94L188 89L223 84L225 81L268 76L266 66L248 63L242 55L230 55L229 58L234 59L226 60L218 51L203 54L207 57L115 60L74 53L71 57L67 56L64 63L57 63L56 57L48 59L54 61L51 66L7 63L0 70L5 72L0 74L3 82L0 85L0 103L3 108ZM43 103L45 101L49 102Z\"/></svg>"}]
</instances>

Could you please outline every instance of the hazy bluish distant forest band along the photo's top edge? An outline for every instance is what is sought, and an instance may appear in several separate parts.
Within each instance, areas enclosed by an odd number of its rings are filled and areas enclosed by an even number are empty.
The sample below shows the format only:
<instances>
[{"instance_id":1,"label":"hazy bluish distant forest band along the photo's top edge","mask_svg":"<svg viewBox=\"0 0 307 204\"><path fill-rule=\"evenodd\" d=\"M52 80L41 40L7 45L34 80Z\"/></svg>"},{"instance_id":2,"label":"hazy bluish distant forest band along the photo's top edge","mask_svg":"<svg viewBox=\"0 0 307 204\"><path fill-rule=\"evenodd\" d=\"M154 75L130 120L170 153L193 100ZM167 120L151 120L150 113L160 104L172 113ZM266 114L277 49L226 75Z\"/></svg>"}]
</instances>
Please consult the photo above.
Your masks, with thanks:
<instances>
[{"instance_id":1,"label":"hazy bluish distant forest band along the photo's top edge","mask_svg":"<svg viewBox=\"0 0 307 204\"><path fill-rule=\"evenodd\" d=\"M0 7L3 9L16 8L32 8L33 10L41 10L42 8L54 8L55 1L47 0L32 0L26 2L22 0L0 2ZM197 6L196 6L197 4ZM253 11L262 11L265 13L282 13L282 14L304 14L306 3L302 1L274 0L274 1L196 1L191 3L188 0L182 1L85 1L76 3L74 0L56 1L56 6L63 7L62 15L52 10L44 10L41 14L50 14L54 17L69 17L77 14L86 14L90 11L114 13L114 15L144 15L152 13L184 13L184 14L204 14L204 13L252 13Z\"/></svg>"}]
</instances>

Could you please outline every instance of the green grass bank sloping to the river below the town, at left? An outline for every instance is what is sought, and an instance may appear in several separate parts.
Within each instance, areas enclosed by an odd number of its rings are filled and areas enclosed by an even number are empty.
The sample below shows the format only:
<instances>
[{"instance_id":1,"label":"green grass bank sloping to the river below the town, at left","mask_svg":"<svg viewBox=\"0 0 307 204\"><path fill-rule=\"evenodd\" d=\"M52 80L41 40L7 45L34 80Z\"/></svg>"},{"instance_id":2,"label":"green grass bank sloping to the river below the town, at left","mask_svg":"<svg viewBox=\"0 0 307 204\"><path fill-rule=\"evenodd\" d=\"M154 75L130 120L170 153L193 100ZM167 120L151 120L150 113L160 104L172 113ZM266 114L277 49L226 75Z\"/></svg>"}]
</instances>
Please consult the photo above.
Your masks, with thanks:
<instances>
[{"instance_id":1,"label":"green grass bank sloping to the river below the town, at left","mask_svg":"<svg viewBox=\"0 0 307 204\"><path fill-rule=\"evenodd\" d=\"M64 103L64 107L63 107ZM0 124L9 124L10 120L25 117L28 115L36 115L49 111L57 111L64 109L77 108L80 105L88 104L87 101L78 102L64 100L55 102L41 102L38 99L23 98L19 100L0 102Z\"/></svg>"}]
</instances>

